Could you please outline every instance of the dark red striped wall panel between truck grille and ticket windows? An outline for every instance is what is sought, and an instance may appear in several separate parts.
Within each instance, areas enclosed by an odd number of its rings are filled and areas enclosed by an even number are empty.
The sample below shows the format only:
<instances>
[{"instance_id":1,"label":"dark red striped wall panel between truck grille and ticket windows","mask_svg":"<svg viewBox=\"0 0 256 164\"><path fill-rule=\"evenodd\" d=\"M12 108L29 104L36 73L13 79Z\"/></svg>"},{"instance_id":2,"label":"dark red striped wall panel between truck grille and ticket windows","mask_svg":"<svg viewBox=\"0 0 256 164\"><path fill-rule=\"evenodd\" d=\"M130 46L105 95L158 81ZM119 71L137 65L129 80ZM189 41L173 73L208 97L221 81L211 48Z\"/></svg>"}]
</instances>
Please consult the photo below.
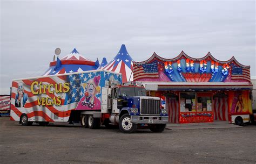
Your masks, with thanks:
<instances>
[{"instance_id":1,"label":"dark red striped wall panel between truck grille and ticket windows","mask_svg":"<svg viewBox=\"0 0 256 164\"><path fill-rule=\"evenodd\" d=\"M166 97L166 106L168 109L169 123L179 123L179 102L177 98Z\"/></svg>"}]
</instances>

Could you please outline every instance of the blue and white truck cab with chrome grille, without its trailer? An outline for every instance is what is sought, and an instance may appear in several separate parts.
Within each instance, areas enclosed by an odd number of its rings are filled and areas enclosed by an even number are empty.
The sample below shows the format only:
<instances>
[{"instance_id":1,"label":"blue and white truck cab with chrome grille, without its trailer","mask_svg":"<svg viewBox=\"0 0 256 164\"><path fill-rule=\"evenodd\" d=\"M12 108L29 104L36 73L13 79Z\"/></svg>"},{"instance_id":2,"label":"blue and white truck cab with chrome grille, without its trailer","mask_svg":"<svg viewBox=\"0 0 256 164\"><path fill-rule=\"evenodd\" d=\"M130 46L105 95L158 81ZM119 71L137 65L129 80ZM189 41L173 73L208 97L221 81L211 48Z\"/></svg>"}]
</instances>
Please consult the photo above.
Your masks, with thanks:
<instances>
[{"instance_id":1,"label":"blue and white truck cab with chrome grille, without its trailer","mask_svg":"<svg viewBox=\"0 0 256 164\"><path fill-rule=\"evenodd\" d=\"M107 94L110 123L119 124L122 132L132 133L141 125L153 132L165 130L169 120L167 110L161 109L159 97L146 96L144 87L116 85L110 87Z\"/></svg>"}]
</instances>

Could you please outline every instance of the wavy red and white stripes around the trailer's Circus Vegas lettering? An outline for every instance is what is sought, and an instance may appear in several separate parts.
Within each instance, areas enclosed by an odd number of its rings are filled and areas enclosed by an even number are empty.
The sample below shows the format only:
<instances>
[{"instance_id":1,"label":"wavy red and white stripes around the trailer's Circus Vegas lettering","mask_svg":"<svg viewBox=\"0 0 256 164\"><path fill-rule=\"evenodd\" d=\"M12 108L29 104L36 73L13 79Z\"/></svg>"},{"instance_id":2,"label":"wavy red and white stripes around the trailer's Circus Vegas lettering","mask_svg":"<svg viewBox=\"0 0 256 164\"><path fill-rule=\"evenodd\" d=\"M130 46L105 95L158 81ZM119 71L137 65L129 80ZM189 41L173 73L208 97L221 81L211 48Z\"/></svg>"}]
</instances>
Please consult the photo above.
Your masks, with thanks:
<instances>
[{"instance_id":1,"label":"wavy red and white stripes around the trailer's Circus Vegas lettering","mask_svg":"<svg viewBox=\"0 0 256 164\"><path fill-rule=\"evenodd\" d=\"M43 84L56 84L56 83L65 83L66 82L66 75L65 76L52 76L52 77L41 77L39 79L33 80L21 80L21 81L13 81L12 82L12 92L11 92L11 119L12 120L19 120L19 117L22 113L27 113L28 118L36 119L38 121L46 121L46 122L55 122L55 121L63 121L67 122L70 116L71 110L75 110L77 103L70 103L67 104L66 108L63 108L62 105L52 105L52 106L42 106L38 105L37 97L38 95L32 94L30 87L33 81L42 82ZM15 96L17 94L18 83L23 83L24 93L28 95L28 101L26 101L24 108L16 108L15 107ZM39 88L34 88L37 91ZM40 97L61 97L62 104L65 102L66 94L51 94L46 89L46 94L40 95ZM36 108L35 108L36 106Z\"/></svg>"}]
</instances>

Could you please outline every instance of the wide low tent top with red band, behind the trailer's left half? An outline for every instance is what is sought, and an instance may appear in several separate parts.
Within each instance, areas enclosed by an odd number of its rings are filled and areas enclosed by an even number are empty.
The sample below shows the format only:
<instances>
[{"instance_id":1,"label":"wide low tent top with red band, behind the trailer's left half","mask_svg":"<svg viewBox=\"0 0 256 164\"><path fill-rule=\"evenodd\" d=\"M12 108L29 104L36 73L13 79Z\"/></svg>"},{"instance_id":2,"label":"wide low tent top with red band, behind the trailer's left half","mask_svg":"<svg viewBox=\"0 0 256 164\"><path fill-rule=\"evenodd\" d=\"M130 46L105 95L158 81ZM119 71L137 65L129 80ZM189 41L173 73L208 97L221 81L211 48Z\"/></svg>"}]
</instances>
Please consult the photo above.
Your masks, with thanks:
<instances>
[{"instance_id":1,"label":"wide low tent top with red band, behind the trailer's left half","mask_svg":"<svg viewBox=\"0 0 256 164\"><path fill-rule=\"evenodd\" d=\"M56 75L74 72L83 72L86 70L95 70L99 67L99 61L91 61L80 55L76 48L73 51L64 56L63 58L57 58L56 61L50 62L50 67L43 76L46 75Z\"/></svg>"}]
</instances>

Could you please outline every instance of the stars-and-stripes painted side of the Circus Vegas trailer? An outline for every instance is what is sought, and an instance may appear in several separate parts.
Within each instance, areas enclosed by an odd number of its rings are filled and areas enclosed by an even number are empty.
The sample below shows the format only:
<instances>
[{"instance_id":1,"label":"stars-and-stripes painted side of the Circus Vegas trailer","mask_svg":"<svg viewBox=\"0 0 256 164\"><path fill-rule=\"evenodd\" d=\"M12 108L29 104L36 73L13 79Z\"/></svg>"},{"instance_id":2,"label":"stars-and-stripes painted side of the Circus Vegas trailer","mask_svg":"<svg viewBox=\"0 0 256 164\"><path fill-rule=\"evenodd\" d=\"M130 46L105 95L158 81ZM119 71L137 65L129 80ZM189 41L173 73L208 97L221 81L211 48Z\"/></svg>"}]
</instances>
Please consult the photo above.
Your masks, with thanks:
<instances>
[{"instance_id":1,"label":"stars-and-stripes painted side of the Circus Vegas trailer","mask_svg":"<svg viewBox=\"0 0 256 164\"><path fill-rule=\"evenodd\" d=\"M121 82L122 75L101 70L14 80L11 119L18 121L26 113L29 121L67 122L72 110L100 110L101 87ZM97 103L86 104L89 89L95 89L92 99Z\"/></svg>"}]
</instances>

